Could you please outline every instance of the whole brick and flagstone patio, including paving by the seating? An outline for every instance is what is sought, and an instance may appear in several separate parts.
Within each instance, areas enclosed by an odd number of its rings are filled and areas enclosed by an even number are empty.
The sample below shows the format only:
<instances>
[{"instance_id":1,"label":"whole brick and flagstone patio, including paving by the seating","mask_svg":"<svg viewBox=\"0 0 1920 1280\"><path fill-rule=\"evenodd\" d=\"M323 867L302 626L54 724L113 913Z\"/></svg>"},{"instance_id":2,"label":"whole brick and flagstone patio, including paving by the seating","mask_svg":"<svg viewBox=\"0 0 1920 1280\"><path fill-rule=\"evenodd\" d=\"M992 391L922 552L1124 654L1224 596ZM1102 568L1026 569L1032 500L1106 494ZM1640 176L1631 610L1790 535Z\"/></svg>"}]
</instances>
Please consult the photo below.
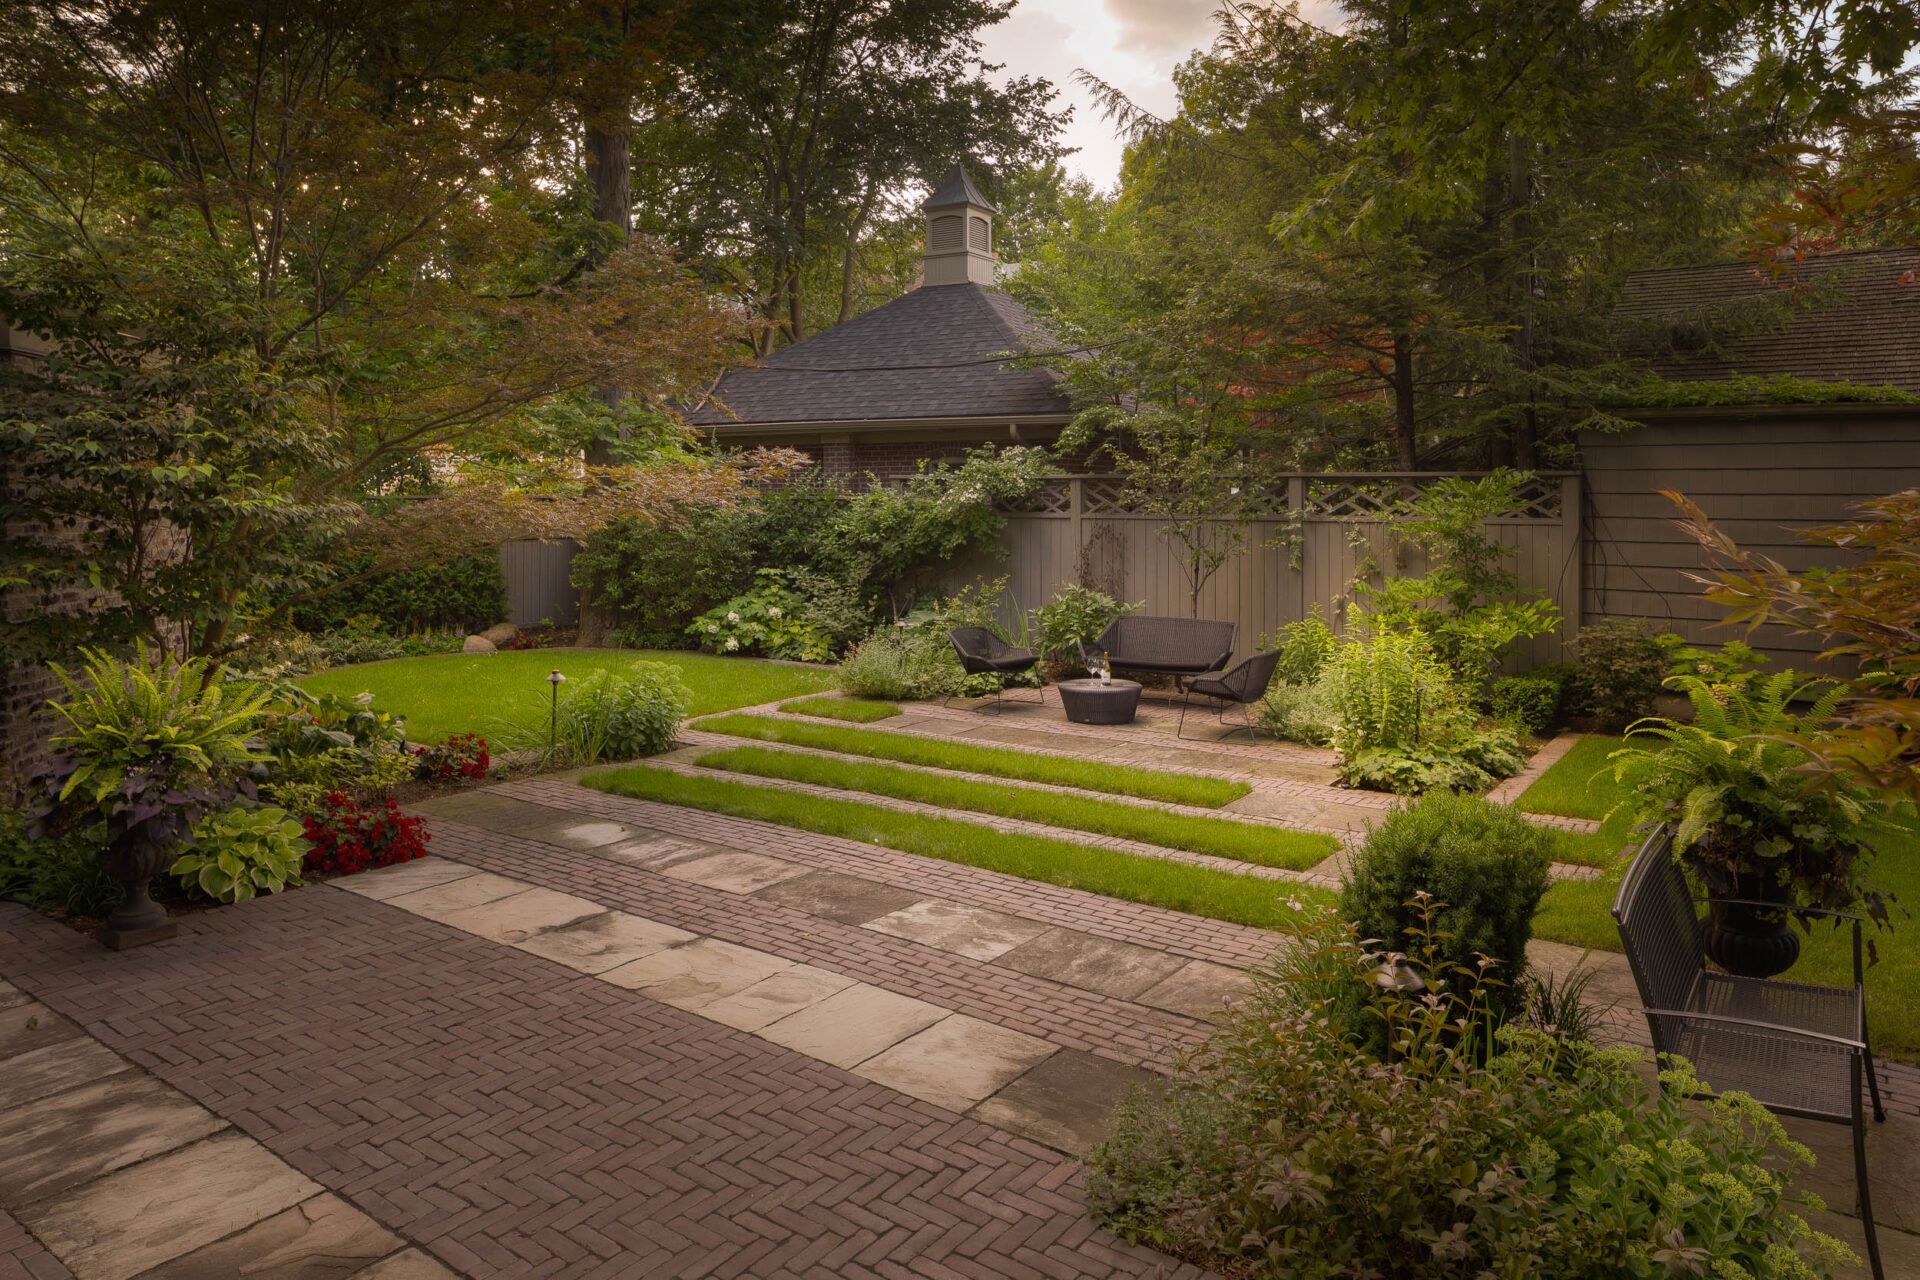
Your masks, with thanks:
<instances>
[{"instance_id":1,"label":"whole brick and flagstone patio, including paving by the seating","mask_svg":"<svg viewBox=\"0 0 1920 1280\"><path fill-rule=\"evenodd\" d=\"M912 712L881 727L1331 791L1171 720ZM432 858L138 952L0 908L0 1280L1200 1274L1100 1232L1075 1155L1273 935L551 777L422 810ZM1920 1073L1885 1082L1920 1276ZM1849 1205L1845 1130L1795 1132Z\"/></svg>"}]
</instances>

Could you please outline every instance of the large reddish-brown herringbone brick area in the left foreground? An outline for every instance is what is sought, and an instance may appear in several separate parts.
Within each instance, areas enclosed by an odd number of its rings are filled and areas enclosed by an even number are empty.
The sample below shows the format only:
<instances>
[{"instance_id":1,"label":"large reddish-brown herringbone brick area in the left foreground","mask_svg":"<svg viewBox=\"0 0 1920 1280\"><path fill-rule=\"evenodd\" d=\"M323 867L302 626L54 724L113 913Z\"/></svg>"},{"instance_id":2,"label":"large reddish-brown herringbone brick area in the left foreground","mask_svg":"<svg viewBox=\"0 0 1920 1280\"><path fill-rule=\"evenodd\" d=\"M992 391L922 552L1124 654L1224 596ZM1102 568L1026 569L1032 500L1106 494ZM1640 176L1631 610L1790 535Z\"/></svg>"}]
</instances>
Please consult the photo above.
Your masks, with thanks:
<instances>
[{"instance_id":1,"label":"large reddish-brown herringbone brick area in the left foreground","mask_svg":"<svg viewBox=\"0 0 1920 1280\"><path fill-rule=\"evenodd\" d=\"M1094 1228L1044 1148L328 887L129 954L4 912L0 954L474 1276L1200 1274Z\"/></svg>"}]
</instances>

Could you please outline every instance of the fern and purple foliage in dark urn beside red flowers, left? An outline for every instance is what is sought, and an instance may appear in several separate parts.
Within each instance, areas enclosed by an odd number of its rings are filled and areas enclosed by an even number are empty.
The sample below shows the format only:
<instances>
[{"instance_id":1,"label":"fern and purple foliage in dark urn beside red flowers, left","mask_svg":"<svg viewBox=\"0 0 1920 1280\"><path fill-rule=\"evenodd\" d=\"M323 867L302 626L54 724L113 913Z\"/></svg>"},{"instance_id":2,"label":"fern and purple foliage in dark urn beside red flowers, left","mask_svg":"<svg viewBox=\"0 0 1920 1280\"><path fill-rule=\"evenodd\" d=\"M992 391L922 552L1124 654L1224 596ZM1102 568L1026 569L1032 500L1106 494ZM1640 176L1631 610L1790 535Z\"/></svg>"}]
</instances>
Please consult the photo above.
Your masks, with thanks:
<instances>
[{"instance_id":1,"label":"fern and purple foliage in dark urn beside red flowers, left","mask_svg":"<svg viewBox=\"0 0 1920 1280\"><path fill-rule=\"evenodd\" d=\"M267 702L238 691L204 660L173 662L140 645L132 662L83 649L79 676L48 664L65 685L54 702L65 729L40 775L27 835L61 835L106 823L100 865L121 883L121 904L100 927L115 950L175 933L148 881L190 839L192 825L240 789L255 764L248 735Z\"/></svg>"}]
</instances>

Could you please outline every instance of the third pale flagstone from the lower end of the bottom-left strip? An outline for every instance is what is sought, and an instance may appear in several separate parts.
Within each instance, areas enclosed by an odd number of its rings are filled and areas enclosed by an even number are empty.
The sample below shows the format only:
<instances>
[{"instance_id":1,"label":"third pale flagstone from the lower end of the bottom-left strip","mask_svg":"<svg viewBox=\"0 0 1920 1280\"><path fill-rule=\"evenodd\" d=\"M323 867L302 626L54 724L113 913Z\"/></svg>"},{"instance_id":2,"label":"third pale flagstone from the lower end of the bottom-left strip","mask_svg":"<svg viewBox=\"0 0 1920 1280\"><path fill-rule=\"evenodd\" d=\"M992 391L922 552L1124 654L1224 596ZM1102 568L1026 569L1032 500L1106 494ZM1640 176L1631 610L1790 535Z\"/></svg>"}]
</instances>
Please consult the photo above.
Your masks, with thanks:
<instances>
[{"instance_id":1,"label":"third pale flagstone from the lower end of the bottom-left strip","mask_svg":"<svg viewBox=\"0 0 1920 1280\"><path fill-rule=\"evenodd\" d=\"M321 1190L252 1138L225 1132L15 1217L77 1280L131 1280Z\"/></svg>"}]
</instances>

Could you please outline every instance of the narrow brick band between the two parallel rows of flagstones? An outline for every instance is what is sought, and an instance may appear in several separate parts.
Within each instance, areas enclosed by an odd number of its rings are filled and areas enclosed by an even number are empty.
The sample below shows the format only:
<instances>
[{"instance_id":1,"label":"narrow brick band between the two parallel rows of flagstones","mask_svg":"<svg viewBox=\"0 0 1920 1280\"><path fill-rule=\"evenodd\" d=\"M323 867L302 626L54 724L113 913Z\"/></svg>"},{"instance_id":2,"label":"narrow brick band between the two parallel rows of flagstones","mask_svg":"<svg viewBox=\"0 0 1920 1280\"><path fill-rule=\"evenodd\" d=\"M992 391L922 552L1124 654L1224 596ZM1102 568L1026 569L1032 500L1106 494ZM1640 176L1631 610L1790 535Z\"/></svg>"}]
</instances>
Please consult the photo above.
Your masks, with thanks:
<instances>
[{"instance_id":1,"label":"narrow brick band between the two parallel rows of flagstones","mask_svg":"<svg viewBox=\"0 0 1920 1280\"><path fill-rule=\"evenodd\" d=\"M1194 1017L1029 977L776 902L657 875L591 852L538 844L445 819L434 819L432 831L436 856L530 879L722 942L831 969L1127 1065L1164 1069L1173 1050L1198 1044L1208 1032L1208 1025ZM770 839L751 848L780 852ZM1267 946L1271 950L1271 935Z\"/></svg>"}]
</instances>

